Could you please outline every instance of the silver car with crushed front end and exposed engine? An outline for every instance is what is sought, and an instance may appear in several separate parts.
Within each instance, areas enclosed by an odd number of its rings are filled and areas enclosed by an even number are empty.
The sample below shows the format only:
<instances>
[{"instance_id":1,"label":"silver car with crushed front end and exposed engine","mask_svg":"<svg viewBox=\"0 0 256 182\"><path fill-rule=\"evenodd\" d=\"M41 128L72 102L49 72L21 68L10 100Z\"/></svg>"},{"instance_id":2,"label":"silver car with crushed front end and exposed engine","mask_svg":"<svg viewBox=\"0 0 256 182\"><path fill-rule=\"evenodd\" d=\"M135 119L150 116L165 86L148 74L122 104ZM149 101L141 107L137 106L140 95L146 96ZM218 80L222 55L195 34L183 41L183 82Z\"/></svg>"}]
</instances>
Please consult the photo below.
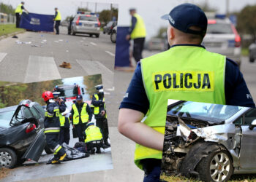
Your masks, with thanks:
<instances>
[{"instance_id":1,"label":"silver car with crushed front end and exposed engine","mask_svg":"<svg viewBox=\"0 0 256 182\"><path fill-rule=\"evenodd\" d=\"M256 172L256 108L178 101L166 120L162 174L227 181Z\"/></svg>"}]
</instances>

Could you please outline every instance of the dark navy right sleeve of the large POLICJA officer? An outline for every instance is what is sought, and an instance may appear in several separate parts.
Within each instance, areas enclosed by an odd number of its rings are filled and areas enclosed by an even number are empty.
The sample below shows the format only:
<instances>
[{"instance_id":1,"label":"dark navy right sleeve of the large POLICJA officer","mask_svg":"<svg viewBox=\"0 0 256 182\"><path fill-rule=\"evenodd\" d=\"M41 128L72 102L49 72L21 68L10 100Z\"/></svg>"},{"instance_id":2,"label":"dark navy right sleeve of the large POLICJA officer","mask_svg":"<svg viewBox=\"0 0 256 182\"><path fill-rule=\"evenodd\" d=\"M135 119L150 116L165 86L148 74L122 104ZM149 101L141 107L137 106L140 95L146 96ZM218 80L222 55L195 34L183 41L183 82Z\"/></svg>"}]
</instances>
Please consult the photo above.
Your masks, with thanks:
<instances>
[{"instance_id":1,"label":"dark navy right sleeve of the large POLICJA officer","mask_svg":"<svg viewBox=\"0 0 256 182\"><path fill-rule=\"evenodd\" d=\"M225 98L227 105L255 108L243 74L236 63L229 58L227 58L225 68Z\"/></svg>"}]
</instances>

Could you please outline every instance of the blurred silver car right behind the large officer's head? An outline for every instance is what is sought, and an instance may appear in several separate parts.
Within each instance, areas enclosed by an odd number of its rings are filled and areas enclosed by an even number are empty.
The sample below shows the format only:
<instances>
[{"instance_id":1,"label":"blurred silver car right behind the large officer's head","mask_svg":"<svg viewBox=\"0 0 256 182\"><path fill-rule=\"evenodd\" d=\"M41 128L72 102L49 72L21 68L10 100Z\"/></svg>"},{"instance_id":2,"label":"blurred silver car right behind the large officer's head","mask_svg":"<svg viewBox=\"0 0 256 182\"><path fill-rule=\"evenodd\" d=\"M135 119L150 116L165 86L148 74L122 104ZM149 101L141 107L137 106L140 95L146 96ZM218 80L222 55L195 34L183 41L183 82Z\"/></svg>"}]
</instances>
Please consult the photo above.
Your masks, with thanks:
<instances>
[{"instance_id":1,"label":"blurred silver car right behind the large officer's head","mask_svg":"<svg viewBox=\"0 0 256 182\"><path fill-rule=\"evenodd\" d=\"M206 50L226 55L241 65L241 37L229 19L208 19L206 36L203 39Z\"/></svg>"}]
</instances>

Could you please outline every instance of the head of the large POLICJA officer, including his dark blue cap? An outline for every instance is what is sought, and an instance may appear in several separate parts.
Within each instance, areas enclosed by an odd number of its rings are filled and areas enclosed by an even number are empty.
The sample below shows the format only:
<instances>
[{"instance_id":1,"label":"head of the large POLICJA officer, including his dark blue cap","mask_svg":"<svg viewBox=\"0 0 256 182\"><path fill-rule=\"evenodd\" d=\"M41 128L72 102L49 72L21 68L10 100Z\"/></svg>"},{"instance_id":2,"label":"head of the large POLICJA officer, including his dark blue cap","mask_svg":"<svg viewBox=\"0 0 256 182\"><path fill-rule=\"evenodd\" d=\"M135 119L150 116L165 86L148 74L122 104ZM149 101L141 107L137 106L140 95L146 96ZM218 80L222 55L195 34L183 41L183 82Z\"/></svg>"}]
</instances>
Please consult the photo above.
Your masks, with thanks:
<instances>
[{"instance_id":1,"label":"head of the large POLICJA officer, including his dark blue cap","mask_svg":"<svg viewBox=\"0 0 256 182\"><path fill-rule=\"evenodd\" d=\"M207 17L195 4L180 4L162 19L168 20L167 39L173 44L201 44L207 30Z\"/></svg>"}]
</instances>

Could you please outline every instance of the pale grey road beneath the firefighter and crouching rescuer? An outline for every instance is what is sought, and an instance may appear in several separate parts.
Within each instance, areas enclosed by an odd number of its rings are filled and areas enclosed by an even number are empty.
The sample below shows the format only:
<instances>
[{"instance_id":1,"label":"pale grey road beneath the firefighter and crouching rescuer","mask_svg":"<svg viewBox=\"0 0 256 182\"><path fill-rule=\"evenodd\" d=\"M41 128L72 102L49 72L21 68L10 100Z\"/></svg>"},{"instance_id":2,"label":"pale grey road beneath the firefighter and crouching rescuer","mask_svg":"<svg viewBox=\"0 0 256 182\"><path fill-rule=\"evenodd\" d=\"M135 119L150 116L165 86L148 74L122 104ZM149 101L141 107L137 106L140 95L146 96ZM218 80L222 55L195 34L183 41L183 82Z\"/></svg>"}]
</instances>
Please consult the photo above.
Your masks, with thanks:
<instances>
[{"instance_id":1,"label":"pale grey road beneath the firefighter and crouching rescuer","mask_svg":"<svg viewBox=\"0 0 256 182\"><path fill-rule=\"evenodd\" d=\"M95 122L95 119L93 118L91 121ZM75 146L75 143L78 142L78 138L72 137L71 126L69 131L69 146ZM34 181L38 178L113 169L111 148L101 149L101 151L101 154L92 154L90 157L62 162L59 165L45 165L46 162L48 162L48 159L53 157L53 154L46 154L45 151L43 151L42 156L39 158L39 162L24 162L23 165L10 170L10 174L6 178L1 179L1 181L7 182L29 179Z\"/></svg>"}]
</instances>

